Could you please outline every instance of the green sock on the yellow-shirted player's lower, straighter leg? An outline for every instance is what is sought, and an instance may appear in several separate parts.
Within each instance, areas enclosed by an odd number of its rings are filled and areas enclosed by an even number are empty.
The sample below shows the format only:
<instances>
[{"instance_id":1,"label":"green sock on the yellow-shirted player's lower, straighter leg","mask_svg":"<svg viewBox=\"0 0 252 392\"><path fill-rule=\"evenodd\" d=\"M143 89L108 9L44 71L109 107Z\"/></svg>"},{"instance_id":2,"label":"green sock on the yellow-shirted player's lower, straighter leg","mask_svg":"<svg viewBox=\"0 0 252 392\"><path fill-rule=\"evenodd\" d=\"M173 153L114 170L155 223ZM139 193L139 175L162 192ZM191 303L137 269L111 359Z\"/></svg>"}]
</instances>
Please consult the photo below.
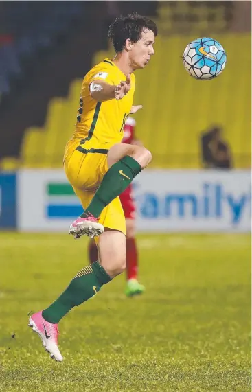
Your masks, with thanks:
<instances>
[{"instance_id":1,"label":"green sock on the yellow-shirted player's lower, straighter leg","mask_svg":"<svg viewBox=\"0 0 252 392\"><path fill-rule=\"evenodd\" d=\"M43 318L49 323L58 323L69 310L93 297L109 281L111 277L98 262L82 268L60 297L43 310Z\"/></svg>"}]
</instances>

